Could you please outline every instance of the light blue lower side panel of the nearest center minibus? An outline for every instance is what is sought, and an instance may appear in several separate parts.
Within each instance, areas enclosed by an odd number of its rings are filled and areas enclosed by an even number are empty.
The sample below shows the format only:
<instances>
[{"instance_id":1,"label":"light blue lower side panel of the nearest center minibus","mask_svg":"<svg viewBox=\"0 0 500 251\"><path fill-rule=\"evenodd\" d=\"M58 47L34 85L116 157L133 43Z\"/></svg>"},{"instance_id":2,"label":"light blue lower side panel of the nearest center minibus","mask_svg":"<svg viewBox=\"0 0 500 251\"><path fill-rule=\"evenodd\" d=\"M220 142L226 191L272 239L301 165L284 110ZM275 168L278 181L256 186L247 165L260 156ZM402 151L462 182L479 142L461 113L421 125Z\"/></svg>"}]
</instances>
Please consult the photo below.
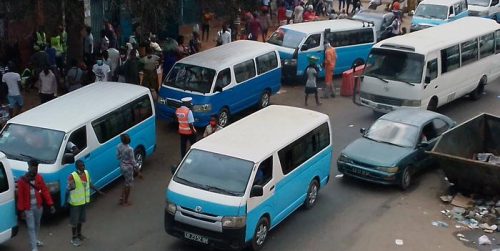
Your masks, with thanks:
<instances>
[{"instance_id":1,"label":"light blue lower side panel of the nearest center minibus","mask_svg":"<svg viewBox=\"0 0 500 251\"><path fill-rule=\"evenodd\" d=\"M271 228L274 228L299 208L304 203L309 183L314 177L319 177L321 186L326 185L330 176L332 153L333 147L327 147L276 184L274 196L248 213L246 241L253 238L257 222L265 213L271 216Z\"/></svg>"}]
</instances>

